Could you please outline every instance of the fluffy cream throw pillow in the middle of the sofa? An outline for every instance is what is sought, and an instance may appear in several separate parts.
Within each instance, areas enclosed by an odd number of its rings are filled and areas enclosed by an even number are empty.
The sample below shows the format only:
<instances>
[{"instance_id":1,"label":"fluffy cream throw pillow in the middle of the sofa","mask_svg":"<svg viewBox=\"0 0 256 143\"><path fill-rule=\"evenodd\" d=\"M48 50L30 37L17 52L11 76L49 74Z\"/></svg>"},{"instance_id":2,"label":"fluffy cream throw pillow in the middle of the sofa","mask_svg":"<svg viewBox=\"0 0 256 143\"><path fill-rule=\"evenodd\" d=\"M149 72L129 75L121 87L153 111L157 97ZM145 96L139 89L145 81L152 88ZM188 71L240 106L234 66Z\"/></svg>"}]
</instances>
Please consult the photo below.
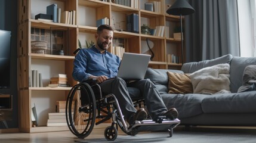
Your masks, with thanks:
<instances>
[{"instance_id":1,"label":"fluffy cream throw pillow in the middle of the sofa","mask_svg":"<svg viewBox=\"0 0 256 143\"><path fill-rule=\"evenodd\" d=\"M230 93L229 69L229 64L217 64L190 74L194 94Z\"/></svg>"}]
</instances>

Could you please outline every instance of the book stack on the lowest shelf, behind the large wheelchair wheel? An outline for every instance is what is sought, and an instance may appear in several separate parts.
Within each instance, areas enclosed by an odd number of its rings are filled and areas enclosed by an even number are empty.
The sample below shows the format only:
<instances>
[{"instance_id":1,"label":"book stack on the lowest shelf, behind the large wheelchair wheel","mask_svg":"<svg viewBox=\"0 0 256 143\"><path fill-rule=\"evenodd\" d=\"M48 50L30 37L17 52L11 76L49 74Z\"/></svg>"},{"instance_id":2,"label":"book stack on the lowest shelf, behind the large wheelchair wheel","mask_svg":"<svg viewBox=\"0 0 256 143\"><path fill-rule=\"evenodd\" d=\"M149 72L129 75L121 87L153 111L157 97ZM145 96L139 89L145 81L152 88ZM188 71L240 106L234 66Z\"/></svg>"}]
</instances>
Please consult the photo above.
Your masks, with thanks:
<instances>
[{"instance_id":1,"label":"book stack on the lowest shelf, behind the large wheelchair wheel","mask_svg":"<svg viewBox=\"0 0 256 143\"><path fill-rule=\"evenodd\" d=\"M66 101L56 102L56 112L48 113L47 126L67 126L66 121ZM75 102L72 102L72 109L75 108ZM73 115L73 111L72 111Z\"/></svg>"}]
</instances>

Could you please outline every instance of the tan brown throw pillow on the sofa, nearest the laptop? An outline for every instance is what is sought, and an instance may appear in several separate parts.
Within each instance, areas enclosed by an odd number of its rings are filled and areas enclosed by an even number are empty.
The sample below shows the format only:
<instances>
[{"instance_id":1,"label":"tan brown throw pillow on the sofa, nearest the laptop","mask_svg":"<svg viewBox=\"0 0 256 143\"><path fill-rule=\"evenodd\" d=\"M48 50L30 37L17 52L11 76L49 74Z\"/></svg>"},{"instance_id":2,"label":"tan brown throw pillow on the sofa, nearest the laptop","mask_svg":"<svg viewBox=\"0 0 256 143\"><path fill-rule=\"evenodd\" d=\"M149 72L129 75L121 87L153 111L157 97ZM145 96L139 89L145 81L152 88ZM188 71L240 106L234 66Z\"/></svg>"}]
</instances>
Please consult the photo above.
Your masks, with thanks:
<instances>
[{"instance_id":1,"label":"tan brown throw pillow on the sofa, nearest the laptop","mask_svg":"<svg viewBox=\"0 0 256 143\"><path fill-rule=\"evenodd\" d=\"M172 73L167 71L169 79L169 94L192 94L193 87L191 80L187 74Z\"/></svg>"}]
</instances>

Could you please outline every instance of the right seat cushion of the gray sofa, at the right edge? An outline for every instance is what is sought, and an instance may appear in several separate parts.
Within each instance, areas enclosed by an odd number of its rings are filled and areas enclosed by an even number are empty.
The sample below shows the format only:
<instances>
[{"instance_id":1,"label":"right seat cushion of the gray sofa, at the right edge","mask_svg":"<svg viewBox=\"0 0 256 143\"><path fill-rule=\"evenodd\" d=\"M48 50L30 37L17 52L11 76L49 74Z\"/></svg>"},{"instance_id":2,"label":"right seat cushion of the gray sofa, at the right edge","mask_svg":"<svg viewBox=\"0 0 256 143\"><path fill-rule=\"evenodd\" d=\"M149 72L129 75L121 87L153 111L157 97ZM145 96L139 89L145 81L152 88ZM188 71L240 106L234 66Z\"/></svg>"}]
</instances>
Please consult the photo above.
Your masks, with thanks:
<instances>
[{"instance_id":1,"label":"right seat cushion of the gray sofa, at the right edge","mask_svg":"<svg viewBox=\"0 0 256 143\"><path fill-rule=\"evenodd\" d=\"M202 100L203 113L256 113L256 91L218 94Z\"/></svg>"}]
</instances>

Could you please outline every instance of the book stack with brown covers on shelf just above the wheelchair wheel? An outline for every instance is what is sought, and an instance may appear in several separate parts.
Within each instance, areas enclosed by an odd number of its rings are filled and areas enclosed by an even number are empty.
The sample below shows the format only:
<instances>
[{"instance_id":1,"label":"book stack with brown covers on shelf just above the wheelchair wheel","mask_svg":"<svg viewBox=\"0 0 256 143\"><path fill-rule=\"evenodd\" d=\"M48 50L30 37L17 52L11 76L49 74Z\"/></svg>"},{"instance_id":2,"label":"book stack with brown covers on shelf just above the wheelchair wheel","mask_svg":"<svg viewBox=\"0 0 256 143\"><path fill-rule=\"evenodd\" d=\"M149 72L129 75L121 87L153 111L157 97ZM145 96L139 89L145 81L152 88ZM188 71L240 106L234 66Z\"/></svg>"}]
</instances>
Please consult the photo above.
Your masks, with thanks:
<instances>
[{"instance_id":1,"label":"book stack with brown covers on shelf just above the wheelchair wheel","mask_svg":"<svg viewBox=\"0 0 256 143\"><path fill-rule=\"evenodd\" d=\"M67 74L53 74L50 79L49 87L69 87L70 85L67 83Z\"/></svg>"}]
</instances>

